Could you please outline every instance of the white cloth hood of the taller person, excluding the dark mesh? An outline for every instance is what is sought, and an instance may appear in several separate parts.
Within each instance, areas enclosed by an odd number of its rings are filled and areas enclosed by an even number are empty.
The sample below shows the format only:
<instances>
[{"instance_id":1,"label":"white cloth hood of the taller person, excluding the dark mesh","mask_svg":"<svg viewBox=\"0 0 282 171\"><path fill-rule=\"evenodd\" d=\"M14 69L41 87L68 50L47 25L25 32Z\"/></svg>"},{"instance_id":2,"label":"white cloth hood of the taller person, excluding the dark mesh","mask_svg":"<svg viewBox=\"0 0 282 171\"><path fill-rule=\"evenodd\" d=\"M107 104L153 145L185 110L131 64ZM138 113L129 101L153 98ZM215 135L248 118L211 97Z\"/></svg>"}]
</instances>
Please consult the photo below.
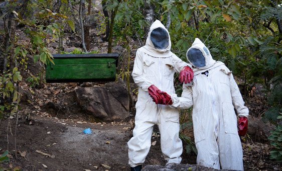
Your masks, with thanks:
<instances>
[{"instance_id":1,"label":"white cloth hood of the taller person, excluding the dark mesh","mask_svg":"<svg viewBox=\"0 0 282 171\"><path fill-rule=\"evenodd\" d=\"M163 28L165 29L167 32L168 30L166 29L166 27L159 21L156 20L150 27L150 31L148 33L148 37L146 40L146 45L143 46L142 48L140 48L140 50L144 51L145 53L154 56L154 57L170 57L173 55L173 53L170 51L171 50L171 38L170 38L170 34L168 32L169 35L169 45L166 49L157 49L155 48L154 44L151 41L151 32L156 29L156 28Z\"/></svg>"}]
</instances>

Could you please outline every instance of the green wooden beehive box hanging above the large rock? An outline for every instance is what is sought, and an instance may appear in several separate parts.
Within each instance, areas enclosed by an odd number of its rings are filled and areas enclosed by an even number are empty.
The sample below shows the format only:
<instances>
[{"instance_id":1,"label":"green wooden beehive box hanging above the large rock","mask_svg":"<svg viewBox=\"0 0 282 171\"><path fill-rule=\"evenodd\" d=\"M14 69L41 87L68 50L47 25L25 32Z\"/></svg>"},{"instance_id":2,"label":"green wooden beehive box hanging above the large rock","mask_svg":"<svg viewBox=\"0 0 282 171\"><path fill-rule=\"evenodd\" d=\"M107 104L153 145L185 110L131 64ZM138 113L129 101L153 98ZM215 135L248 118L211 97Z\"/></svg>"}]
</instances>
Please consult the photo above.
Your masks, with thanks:
<instances>
[{"instance_id":1,"label":"green wooden beehive box hanging above the large rock","mask_svg":"<svg viewBox=\"0 0 282 171\"><path fill-rule=\"evenodd\" d=\"M46 82L114 81L118 53L53 54L46 65Z\"/></svg>"}]
</instances>

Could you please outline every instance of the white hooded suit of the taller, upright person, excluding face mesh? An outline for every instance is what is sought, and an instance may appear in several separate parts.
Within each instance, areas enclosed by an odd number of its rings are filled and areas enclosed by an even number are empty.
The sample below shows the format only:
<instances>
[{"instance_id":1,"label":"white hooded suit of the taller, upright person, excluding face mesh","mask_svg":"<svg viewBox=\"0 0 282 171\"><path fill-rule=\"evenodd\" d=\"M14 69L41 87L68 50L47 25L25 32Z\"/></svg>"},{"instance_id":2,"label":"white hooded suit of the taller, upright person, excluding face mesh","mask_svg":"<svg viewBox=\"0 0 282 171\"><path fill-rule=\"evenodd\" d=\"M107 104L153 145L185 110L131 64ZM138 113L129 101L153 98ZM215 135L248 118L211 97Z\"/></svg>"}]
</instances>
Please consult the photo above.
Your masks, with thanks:
<instances>
[{"instance_id":1,"label":"white hooded suit of the taller, upright person, excluding face mesh","mask_svg":"<svg viewBox=\"0 0 282 171\"><path fill-rule=\"evenodd\" d=\"M157 124L161 133L161 149L168 163L180 163L182 141L179 138L179 111L166 105L156 105L148 93L148 88L154 84L161 91L174 94L174 73L180 72L185 66L174 53L170 51L171 41L165 49L154 47L150 35L156 28L165 26L156 20L148 34L146 45L137 49L132 71L132 77L138 85L138 99L135 105L135 127L133 137L128 141L128 157L131 167L144 163L151 147L153 126Z\"/></svg>"}]
</instances>

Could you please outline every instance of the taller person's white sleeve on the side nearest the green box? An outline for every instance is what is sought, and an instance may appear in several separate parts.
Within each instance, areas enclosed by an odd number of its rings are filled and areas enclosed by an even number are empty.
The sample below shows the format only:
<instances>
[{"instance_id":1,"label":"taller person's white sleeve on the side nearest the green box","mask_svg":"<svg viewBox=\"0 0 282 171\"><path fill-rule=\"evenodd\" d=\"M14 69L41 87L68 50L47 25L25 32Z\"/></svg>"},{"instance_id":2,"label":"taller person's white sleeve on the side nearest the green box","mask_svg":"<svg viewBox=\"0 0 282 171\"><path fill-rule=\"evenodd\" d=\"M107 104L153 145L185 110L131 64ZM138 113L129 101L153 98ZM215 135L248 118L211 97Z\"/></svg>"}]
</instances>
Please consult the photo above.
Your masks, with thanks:
<instances>
[{"instance_id":1,"label":"taller person's white sleeve on the side nearest the green box","mask_svg":"<svg viewBox=\"0 0 282 171\"><path fill-rule=\"evenodd\" d=\"M148 88L153 84L145 76L143 76L142 52L139 51L138 49L136 51L136 56L134 60L132 77L134 82L144 91L148 91Z\"/></svg>"}]
</instances>

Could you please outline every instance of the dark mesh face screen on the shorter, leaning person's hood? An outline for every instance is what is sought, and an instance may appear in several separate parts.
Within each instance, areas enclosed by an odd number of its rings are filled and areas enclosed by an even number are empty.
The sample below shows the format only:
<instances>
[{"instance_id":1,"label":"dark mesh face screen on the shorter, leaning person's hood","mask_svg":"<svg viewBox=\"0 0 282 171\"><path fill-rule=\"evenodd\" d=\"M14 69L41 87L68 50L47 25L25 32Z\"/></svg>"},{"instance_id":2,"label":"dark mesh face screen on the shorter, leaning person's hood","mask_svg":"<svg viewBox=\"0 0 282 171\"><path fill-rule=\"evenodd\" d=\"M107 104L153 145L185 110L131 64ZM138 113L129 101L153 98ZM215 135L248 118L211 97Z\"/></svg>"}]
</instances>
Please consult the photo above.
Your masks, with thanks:
<instances>
[{"instance_id":1,"label":"dark mesh face screen on the shorter, leaning person's hood","mask_svg":"<svg viewBox=\"0 0 282 171\"><path fill-rule=\"evenodd\" d=\"M187 52L188 60L196 67L206 66L206 60L203 53L196 48L192 48Z\"/></svg>"}]
</instances>

